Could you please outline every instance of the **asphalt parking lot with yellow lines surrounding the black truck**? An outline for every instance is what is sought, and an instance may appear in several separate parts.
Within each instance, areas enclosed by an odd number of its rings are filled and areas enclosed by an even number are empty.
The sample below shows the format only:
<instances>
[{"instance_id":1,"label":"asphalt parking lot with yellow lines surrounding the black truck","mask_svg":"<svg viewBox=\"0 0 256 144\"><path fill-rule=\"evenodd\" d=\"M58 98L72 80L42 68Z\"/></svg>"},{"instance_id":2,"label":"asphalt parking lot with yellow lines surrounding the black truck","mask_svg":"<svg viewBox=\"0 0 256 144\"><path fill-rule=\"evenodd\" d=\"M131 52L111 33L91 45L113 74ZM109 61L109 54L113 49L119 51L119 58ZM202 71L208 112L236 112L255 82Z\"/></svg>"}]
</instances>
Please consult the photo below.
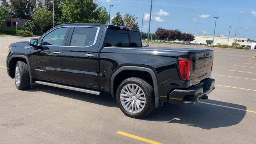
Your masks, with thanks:
<instances>
[{"instance_id":1,"label":"asphalt parking lot with yellow lines surrounding the black truck","mask_svg":"<svg viewBox=\"0 0 256 144\"><path fill-rule=\"evenodd\" d=\"M125 116L111 96L33 84L17 90L0 37L0 144L255 144L255 50L214 48L216 89L194 105L164 104L143 119ZM198 48L193 45L150 44ZM199 47L205 48L205 47Z\"/></svg>"}]
</instances>

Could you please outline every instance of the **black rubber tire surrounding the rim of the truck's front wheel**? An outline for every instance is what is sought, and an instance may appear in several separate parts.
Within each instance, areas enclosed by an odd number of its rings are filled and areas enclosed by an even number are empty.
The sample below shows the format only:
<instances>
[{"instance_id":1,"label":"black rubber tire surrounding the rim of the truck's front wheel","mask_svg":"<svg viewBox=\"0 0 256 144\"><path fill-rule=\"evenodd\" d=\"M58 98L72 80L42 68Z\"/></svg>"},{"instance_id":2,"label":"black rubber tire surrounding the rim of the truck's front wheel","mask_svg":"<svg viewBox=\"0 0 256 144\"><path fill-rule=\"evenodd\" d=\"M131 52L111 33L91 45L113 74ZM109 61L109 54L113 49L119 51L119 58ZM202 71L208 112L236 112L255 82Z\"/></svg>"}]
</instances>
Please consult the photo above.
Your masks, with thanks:
<instances>
[{"instance_id":1,"label":"black rubber tire surrounding the rim of the truck's front wheel","mask_svg":"<svg viewBox=\"0 0 256 144\"><path fill-rule=\"evenodd\" d=\"M19 70L19 84L16 82L16 68ZM28 89L30 86L30 79L29 79L29 72L28 72L28 65L25 62L18 61L16 62L14 68L14 83L18 90L25 90Z\"/></svg>"}]
</instances>

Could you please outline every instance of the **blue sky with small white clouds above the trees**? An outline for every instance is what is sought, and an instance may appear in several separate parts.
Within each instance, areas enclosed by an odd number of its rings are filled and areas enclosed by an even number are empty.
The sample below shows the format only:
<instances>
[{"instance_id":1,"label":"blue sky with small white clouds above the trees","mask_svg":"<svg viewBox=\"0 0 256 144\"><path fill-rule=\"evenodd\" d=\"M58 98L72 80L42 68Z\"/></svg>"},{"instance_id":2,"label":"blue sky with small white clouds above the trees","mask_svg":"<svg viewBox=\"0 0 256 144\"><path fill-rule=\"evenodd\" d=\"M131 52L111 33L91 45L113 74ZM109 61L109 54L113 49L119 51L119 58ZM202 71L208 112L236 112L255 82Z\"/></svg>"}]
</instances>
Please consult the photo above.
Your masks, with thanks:
<instances>
[{"instance_id":1,"label":"blue sky with small white clouds above the trees","mask_svg":"<svg viewBox=\"0 0 256 144\"><path fill-rule=\"evenodd\" d=\"M134 14L143 32L148 32L150 0L95 0L100 6L111 7L113 18L116 12ZM153 0L150 32L156 28L178 29L182 32L212 36L214 17L218 36L250 38L256 40L256 0Z\"/></svg>"}]
</instances>

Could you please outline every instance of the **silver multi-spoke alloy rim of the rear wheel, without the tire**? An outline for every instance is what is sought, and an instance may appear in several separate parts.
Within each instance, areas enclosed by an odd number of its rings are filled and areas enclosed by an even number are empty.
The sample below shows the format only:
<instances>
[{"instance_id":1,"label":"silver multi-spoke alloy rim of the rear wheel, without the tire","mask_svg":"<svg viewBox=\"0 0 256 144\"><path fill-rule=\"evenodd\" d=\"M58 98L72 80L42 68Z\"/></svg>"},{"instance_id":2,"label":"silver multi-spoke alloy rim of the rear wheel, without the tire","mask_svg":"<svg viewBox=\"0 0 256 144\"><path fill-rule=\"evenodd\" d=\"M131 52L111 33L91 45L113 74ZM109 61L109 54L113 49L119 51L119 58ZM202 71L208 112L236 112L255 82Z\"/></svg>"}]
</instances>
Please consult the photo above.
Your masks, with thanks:
<instances>
[{"instance_id":1,"label":"silver multi-spoke alloy rim of the rear wheel, without the tire","mask_svg":"<svg viewBox=\"0 0 256 144\"><path fill-rule=\"evenodd\" d=\"M145 93L136 84L127 84L122 88L120 101L123 108L132 114L138 114L146 106Z\"/></svg>"}]
</instances>

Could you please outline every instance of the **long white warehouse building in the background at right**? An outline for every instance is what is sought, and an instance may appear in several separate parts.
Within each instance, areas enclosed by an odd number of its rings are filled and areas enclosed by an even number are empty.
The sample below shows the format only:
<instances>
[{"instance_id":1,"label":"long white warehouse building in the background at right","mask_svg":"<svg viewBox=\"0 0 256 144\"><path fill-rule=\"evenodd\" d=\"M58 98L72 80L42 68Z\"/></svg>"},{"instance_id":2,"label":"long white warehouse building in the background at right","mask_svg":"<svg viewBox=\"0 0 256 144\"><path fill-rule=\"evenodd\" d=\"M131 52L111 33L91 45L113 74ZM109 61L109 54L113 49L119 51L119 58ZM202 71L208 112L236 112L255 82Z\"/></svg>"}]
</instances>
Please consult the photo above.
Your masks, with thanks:
<instances>
[{"instance_id":1,"label":"long white warehouse building in the background at right","mask_svg":"<svg viewBox=\"0 0 256 144\"><path fill-rule=\"evenodd\" d=\"M192 44L209 44L212 45L213 42L213 36L198 36L195 35L195 40L190 42ZM240 44L240 46L243 47L248 47L250 49L256 49L256 43L250 42L250 39L248 38L237 38L236 39L233 37L222 37L222 36L214 36L214 45L217 44L228 44L231 46L233 42L237 42Z\"/></svg>"}]
</instances>

